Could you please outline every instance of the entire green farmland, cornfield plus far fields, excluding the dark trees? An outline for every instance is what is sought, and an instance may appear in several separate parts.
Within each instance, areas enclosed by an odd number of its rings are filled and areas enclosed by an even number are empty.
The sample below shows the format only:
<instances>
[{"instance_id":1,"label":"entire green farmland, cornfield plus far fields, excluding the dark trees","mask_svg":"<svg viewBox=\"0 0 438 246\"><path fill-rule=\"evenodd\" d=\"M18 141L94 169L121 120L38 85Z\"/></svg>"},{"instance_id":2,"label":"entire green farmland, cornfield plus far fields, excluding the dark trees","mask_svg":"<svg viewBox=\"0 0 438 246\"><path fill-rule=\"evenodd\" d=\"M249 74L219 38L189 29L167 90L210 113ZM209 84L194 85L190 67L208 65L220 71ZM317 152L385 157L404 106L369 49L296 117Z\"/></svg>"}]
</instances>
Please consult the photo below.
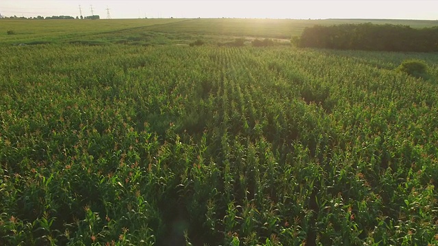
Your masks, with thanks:
<instances>
[{"instance_id":1,"label":"entire green farmland, cornfield plus far fields, excluding the dark trees","mask_svg":"<svg viewBox=\"0 0 438 246\"><path fill-rule=\"evenodd\" d=\"M0 245L437 245L436 53L216 45L336 21L1 20Z\"/></svg>"}]
</instances>

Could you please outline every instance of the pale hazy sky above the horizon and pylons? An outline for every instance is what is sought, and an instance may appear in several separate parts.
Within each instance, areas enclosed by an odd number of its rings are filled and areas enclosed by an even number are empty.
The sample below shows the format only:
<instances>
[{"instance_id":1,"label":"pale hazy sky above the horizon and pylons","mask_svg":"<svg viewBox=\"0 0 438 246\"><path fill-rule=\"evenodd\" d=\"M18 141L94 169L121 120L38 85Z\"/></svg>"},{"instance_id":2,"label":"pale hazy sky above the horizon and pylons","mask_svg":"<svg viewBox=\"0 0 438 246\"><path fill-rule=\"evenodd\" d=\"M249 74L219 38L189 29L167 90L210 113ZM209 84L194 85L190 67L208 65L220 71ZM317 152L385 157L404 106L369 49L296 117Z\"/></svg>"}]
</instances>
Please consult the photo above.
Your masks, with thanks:
<instances>
[{"instance_id":1,"label":"pale hazy sky above the horizon and pylons","mask_svg":"<svg viewBox=\"0 0 438 246\"><path fill-rule=\"evenodd\" d=\"M438 19L438 1L140 1L140 0L0 0L3 16L79 16L112 18L398 18Z\"/></svg>"}]
</instances>

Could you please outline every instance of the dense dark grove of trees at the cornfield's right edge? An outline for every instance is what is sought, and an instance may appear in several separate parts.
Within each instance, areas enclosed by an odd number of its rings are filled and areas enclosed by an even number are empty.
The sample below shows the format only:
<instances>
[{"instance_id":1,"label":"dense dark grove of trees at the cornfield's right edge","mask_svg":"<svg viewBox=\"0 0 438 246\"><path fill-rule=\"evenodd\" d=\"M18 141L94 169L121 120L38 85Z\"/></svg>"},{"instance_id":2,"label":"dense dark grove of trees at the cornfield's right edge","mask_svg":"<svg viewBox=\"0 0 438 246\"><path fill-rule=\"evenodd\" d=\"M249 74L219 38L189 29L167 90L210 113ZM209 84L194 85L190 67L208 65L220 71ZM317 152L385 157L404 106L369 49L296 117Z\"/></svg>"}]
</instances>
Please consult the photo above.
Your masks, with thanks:
<instances>
[{"instance_id":1,"label":"dense dark grove of trees at the cornfield's right edge","mask_svg":"<svg viewBox=\"0 0 438 246\"><path fill-rule=\"evenodd\" d=\"M315 25L292 40L299 47L364 51L438 51L438 27L372 23Z\"/></svg>"}]
</instances>

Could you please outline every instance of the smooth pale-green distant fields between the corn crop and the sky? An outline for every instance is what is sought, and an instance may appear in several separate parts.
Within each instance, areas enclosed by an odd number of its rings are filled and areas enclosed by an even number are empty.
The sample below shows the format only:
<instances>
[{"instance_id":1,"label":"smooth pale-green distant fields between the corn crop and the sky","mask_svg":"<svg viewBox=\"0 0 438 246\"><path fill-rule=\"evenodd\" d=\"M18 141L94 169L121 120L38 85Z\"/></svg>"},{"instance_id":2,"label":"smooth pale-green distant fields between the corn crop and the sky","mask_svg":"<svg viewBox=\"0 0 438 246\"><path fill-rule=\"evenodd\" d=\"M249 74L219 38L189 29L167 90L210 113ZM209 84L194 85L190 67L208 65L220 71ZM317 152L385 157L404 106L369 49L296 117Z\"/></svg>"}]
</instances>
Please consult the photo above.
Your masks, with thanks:
<instances>
[{"instance_id":1,"label":"smooth pale-green distant fields between the corn crop and the sky","mask_svg":"<svg viewBox=\"0 0 438 246\"><path fill-rule=\"evenodd\" d=\"M292 20L292 19L114 19L114 20L0 20L0 43L25 42L137 42L138 44L187 43L192 38L229 40L233 37L289 40L313 25L342 23L391 23L431 27L436 20ZM16 35L7 35L12 30Z\"/></svg>"}]
</instances>

